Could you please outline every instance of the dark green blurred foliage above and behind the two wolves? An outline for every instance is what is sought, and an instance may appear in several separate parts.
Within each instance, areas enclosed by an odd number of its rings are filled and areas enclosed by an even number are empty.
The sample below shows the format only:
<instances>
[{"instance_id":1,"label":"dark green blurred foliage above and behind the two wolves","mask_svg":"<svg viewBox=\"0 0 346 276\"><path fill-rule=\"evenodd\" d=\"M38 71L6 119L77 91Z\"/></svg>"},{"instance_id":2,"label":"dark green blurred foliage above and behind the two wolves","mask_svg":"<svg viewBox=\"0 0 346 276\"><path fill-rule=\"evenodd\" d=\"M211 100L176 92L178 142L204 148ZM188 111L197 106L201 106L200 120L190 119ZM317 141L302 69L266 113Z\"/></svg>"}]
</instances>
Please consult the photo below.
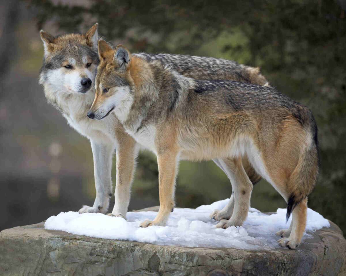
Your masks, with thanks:
<instances>
[{"instance_id":1,"label":"dark green blurred foliage above and behind the two wolves","mask_svg":"<svg viewBox=\"0 0 346 276\"><path fill-rule=\"evenodd\" d=\"M309 206L346 230L343 185L346 168L346 19L333 0L171 1L93 0L91 6L29 1L38 28L53 19L63 31L86 30L94 22L108 40L132 51L171 52L234 59L261 66L279 91L309 106L319 127L321 169ZM340 2L342 3L342 2ZM153 194L158 203L153 155L138 162L134 196ZM255 186L253 207L275 211L280 196ZM177 203L196 207L230 195L230 184L212 163L182 162ZM271 202L268 209L268 202Z\"/></svg>"}]
</instances>

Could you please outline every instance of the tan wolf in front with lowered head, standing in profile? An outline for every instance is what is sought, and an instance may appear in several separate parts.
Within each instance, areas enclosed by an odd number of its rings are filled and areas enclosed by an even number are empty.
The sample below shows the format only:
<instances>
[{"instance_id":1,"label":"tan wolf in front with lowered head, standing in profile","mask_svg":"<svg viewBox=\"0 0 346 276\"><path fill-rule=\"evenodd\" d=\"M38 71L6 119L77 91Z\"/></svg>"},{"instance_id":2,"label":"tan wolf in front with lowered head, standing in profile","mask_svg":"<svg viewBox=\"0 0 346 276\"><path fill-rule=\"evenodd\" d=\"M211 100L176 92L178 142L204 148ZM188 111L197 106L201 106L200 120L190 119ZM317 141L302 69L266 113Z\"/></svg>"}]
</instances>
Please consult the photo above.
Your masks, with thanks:
<instances>
[{"instance_id":1,"label":"tan wolf in front with lowered head, standing in profile","mask_svg":"<svg viewBox=\"0 0 346 276\"><path fill-rule=\"evenodd\" d=\"M229 220L241 225L253 184L242 157L286 200L289 229L278 242L294 249L306 226L307 196L319 171L317 126L312 112L267 86L229 80L195 80L160 60L131 55L98 41L95 99L87 116L115 114L125 131L157 156L160 209L141 227L164 226L174 207L177 163L217 160L227 168L235 195ZM229 206L226 206L229 208ZM227 209L226 208L226 209Z\"/></svg>"}]
</instances>

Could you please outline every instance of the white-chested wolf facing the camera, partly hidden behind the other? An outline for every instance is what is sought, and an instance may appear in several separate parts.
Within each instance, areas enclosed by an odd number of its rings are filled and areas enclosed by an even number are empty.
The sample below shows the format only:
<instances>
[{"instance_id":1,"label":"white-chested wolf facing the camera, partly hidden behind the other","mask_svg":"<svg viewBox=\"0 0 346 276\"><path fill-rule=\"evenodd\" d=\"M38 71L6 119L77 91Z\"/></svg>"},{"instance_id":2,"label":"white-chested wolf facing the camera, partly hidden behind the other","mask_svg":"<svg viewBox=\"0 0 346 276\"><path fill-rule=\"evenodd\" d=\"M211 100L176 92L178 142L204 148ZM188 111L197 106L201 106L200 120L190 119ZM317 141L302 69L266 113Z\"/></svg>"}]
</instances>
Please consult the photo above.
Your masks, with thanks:
<instances>
[{"instance_id":1,"label":"white-chested wolf facing the camera, partly hidden behind the other","mask_svg":"<svg viewBox=\"0 0 346 276\"><path fill-rule=\"evenodd\" d=\"M114 114L109 114L102 121L86 117L95 97L94 80L99 64L98 24L84 34L70 33L54 37L41 30L40 36L44 45L44 59L39 83L44 88L47 101L61 111L70 126L90 139L93 152L96 197L93 206L84 205L79 212L107 213L112 196L112 154L116 149L117 185L111 214L126 218L135 157L140 147L125 132ZM267 82L258 68L240 65L232 60L171 54L137 53L135 56L147 61L161 60L181 74L195 79L223 78L262 85ZM228 174L226 167L218 160L215 162ZM243 158L243 166L253 184L261 179L246 157ZM234 196L231 196L230 208L217 210L215 219L229 218L233 206Z\"/></svg>"}]
</instances>

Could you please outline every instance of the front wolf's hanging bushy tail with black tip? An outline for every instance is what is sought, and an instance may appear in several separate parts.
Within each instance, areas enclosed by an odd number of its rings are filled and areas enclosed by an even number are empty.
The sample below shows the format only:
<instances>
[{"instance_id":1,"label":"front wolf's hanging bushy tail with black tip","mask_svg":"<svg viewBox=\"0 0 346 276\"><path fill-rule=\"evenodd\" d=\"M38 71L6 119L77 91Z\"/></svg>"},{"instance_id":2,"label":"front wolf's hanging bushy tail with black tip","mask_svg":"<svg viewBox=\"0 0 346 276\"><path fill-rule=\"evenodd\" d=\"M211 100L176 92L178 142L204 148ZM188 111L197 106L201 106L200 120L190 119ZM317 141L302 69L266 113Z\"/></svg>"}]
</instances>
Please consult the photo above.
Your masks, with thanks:
<instances>
[{"instance_id":1,"label":"front wolf's hanging bushy tail with black tip","mask_svg":"<svg viewBox=\"0 0 346 276\"><path fill-rule=\"evenodd\" d=\"M300 111L299 121L306 135L298 164L292 172L288 183L290 196L287 201L286 222L294 207L311 193L319 172L320 161L316 121L308 108L304 107Z\"/></svg>"}]
</instances>

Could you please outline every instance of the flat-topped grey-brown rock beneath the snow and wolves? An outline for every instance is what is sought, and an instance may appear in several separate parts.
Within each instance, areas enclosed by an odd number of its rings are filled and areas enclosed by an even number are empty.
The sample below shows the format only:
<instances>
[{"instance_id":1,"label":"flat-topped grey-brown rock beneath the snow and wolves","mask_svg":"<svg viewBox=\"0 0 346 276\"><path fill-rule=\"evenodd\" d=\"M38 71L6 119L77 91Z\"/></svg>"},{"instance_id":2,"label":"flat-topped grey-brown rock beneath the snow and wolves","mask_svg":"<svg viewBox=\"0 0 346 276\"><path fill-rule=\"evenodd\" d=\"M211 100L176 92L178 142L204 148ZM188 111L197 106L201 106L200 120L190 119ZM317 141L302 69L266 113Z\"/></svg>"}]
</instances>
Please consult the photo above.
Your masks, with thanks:
<instances>
[{"instance_id":1,"label":"flat-topped grey-brown rock beneath the snow and wolves","mask_svg":"<svg viewBox=\"0 0 346 276\"><path fill-rule=\"evenodd\" d=\"M1 231L0 275L346 275L346 240L330 225L297 250L256 251L91 238L42 222Z\"/></svg>"}]
</instances>

